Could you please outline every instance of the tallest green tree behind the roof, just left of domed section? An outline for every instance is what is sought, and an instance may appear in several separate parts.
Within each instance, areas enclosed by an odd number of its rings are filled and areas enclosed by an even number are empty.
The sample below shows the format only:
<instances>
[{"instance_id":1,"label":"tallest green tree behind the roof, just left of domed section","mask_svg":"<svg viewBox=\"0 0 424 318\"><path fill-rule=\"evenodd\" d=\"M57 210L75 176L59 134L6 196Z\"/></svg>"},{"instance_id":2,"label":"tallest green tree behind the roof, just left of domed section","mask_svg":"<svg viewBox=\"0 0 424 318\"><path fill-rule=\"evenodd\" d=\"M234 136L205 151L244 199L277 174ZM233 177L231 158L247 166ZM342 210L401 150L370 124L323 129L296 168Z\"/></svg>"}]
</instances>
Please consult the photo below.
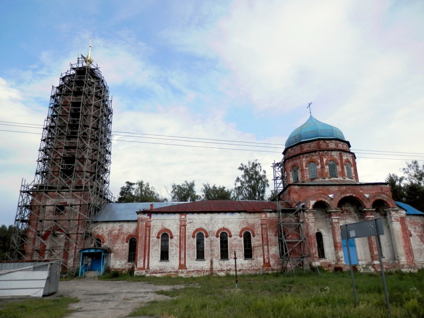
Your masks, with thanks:
<instances>
[{"instance_id":1,"label":"tallest green tree behind the roof, just left of domed section","mask_svg":"<svg viewBox=\"0 0 424 318\"><path fill-rule=\"evenodd\" d=\"M236 200L265 200L265 191L269 187L266 171L262 170L257 159L247 164L241 163L237 168L242 172L234 181L234 198Z\"/></svg>"}]
</instances>

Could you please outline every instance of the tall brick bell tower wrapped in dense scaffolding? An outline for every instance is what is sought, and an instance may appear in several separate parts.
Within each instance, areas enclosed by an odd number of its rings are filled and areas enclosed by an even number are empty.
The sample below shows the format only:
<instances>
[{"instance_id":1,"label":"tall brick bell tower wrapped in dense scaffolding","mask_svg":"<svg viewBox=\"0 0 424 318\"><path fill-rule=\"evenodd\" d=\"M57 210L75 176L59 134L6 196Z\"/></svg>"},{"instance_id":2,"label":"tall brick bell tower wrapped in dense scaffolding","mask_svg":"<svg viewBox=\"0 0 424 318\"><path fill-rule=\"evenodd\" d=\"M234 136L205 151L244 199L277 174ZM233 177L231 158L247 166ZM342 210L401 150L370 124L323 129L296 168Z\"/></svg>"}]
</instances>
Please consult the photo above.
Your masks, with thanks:
<instances>
[{"instance_id":1,"label":"tall brick bell tower wrapped in dense scaffolding","mask_svg":"<svg viewBox=\"0 0 424 318\"><path fill-rule=\"evenodd\" d=\"M90 43L91 49L91 43ZM90 51L52 87L34 180L22 180L9 257L79 266L109 191L112 100Z\"/></svg>"}]
</instances>

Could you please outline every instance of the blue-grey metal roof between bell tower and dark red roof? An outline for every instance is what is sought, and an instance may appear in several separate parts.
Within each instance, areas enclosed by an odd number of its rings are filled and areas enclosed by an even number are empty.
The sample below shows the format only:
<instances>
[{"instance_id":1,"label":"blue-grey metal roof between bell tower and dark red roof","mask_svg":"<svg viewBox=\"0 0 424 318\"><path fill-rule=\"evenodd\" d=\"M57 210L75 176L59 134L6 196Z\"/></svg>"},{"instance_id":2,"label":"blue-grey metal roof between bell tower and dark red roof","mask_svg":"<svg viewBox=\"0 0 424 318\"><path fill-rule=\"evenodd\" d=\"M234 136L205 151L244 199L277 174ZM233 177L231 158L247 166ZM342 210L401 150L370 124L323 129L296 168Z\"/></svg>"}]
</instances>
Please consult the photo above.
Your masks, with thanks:
<instances>
[{"instance_id":1,"label":"blue-grey metal roof between bell tower and dark red roof","mask_svg":"<svg viewBox=\"0 0 424 318\"><path fill-rule=\"evenodd\" d=\"M142 203L108 203L105 204L94 218L94 221L137 221L137 211L150 210L185 202L142 202Z\"/></svg>"}]
</instances>

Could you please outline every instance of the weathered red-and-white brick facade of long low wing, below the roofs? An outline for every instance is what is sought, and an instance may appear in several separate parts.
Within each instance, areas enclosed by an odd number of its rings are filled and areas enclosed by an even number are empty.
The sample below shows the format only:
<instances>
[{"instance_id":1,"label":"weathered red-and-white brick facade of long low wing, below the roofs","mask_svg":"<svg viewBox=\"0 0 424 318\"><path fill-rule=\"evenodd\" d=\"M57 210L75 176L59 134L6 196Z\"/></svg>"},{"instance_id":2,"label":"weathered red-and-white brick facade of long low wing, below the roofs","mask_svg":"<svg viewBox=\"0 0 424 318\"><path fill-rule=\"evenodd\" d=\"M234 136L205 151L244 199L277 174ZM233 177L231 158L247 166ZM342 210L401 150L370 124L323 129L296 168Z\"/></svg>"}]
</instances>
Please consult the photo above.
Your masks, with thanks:
<instances>
[{"instance_id":1,"label":"weathered red-and-white brick facade of long low wing, below the roofs","mask_svg":"<svg viewBox=\"0 0 424 318\"><path fill-rule=\"evenodd\" d=\"M234 201L228 201L234 202ZM192 205L192 203L182 203ZM127 270L133 265L136 274L225 274L234 271L234 251L237 270L243 273L279 270L277 217L272 202L255 202L266 211L255 212L137 212L137 221L102 222L96 236L109 241L110 267ZM134 211L134 214L136 212ZM204 257L197 257L196 236L204 234ZM220 234L228 236L228 255L220 255ZM251 239L252 255L245 257L243 234ZM161 236L169 236L168 260L161 260ZM128 238L137 238L135 263L128 260ZM277 253L275 254L275 251Z\"/></svg>"}]
</instances>

